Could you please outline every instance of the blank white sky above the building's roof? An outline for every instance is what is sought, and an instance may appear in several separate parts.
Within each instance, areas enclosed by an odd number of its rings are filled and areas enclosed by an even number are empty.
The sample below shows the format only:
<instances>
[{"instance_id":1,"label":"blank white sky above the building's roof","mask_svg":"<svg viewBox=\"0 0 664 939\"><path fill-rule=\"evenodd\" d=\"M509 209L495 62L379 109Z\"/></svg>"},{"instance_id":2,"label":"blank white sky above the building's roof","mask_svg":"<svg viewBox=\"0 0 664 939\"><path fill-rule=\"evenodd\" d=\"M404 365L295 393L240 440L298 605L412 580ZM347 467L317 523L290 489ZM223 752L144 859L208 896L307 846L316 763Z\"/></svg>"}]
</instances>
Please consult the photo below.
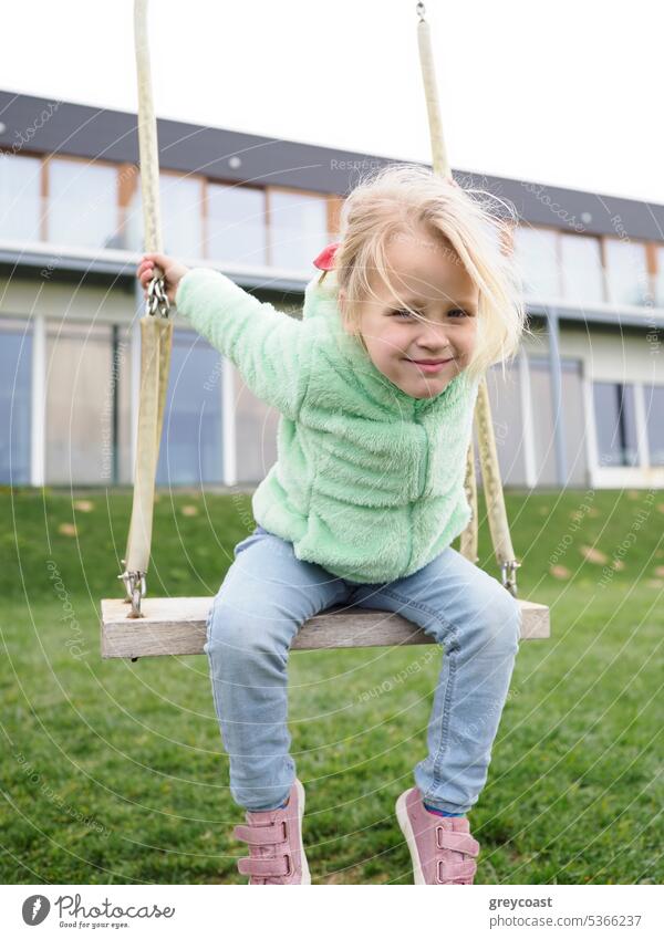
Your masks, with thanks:
<instances>
[{"instance_id":1,"label":"blank white sky above the building's roof","mask_svg":"<svg viewBox=\"0 0 664 939\"><path fill-rule=\"evenodd\" d=\"M455 169L664 204L658 2L425 6ZM430 158L413 0L152 0L149 19L160 117ZM0 88L136 111L132 0L11 0L2 25Z\"/></svg>"}]
</instances>

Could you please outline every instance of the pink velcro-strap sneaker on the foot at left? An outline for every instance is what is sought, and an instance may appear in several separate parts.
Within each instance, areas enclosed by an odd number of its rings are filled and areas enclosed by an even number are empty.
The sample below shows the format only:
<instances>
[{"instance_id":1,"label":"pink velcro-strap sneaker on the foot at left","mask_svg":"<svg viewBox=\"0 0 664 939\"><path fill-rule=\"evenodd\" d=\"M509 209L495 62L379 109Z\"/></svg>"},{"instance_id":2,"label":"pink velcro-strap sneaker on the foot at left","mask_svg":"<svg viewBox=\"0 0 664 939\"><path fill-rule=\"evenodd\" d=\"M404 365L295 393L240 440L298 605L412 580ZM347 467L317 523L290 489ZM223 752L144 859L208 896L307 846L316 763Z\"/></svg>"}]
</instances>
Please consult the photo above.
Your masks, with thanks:
<instances>
[{"instance_id":1,"label":"pink velcro-strap sneaker on the foot at left","mask_svg":"<svg viewBox=\"0 0 664 939\"><path fill-rule=\"evenodd\" d=\"M283 808L247 812L247 824L235 826L236 838L249 844L249 857L238 860L240 874L250 875L248 884L311 884L302 844L303 814L304 786L295 779Z\"/></svg>"}]
</instances>

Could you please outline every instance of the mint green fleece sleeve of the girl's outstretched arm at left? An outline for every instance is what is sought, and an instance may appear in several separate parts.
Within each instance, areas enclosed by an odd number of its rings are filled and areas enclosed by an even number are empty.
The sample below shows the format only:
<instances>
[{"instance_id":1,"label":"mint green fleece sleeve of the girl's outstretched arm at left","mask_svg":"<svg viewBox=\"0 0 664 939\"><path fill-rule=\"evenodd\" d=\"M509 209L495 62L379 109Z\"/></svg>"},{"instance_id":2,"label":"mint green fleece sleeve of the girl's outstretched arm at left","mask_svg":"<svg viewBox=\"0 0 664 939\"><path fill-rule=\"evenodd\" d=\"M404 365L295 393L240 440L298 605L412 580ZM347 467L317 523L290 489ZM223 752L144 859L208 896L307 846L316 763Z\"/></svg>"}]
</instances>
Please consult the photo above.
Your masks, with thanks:
<instances>
[{"instance_id":1,"label":"mint green fleece sleeve of the girl's outstretched arm at left","mask_svg":"<svg viewBox=\"0 0 664 939\"><path fill-rule=\"evenodd\" d=\"M261 303L211 268L187 271L178 284L175 305L237 366L258 398L292 420L297 418L311 357L301 320Z\"/></svg>"}]
</instances>

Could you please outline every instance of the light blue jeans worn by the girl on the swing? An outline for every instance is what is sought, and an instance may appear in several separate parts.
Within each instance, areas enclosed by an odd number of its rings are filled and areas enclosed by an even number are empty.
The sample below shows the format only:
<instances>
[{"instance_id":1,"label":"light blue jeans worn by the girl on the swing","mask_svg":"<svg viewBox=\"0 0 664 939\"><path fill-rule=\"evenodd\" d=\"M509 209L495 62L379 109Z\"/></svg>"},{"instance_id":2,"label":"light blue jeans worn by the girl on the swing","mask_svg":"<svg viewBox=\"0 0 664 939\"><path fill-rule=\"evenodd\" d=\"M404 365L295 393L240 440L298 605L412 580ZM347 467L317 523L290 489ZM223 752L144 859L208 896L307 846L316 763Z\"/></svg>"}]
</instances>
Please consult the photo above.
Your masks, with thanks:
<instances>
[{"instance_id":1,"label":"light blue jeans worn by the girl on the swing","mask_svg":"<svg viewBox=\"0 0 664 939\"><path fill-rule=\"evenodd\" d=\"M452 546L385 584L354 583L300 561L291 542L260 525L234 553L204 647L234 800L261 811L288 797L295 779L287 726L290 646L303 623L344 604L398 613L444 647L428 753L414 780L427 803L468 812L487 780L519 650L520 611L511 594Z\"/></svg>"}]
</instances>

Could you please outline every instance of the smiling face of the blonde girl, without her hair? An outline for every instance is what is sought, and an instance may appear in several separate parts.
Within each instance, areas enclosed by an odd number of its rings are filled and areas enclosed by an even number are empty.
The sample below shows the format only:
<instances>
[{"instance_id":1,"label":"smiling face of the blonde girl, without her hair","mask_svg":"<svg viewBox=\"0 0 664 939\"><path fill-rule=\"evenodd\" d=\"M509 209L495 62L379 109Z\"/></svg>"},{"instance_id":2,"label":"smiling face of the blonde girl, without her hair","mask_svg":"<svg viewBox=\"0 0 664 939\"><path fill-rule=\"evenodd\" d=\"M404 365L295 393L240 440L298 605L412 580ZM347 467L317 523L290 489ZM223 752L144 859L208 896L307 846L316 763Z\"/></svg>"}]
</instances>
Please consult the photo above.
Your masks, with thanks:
<instances>
[{"instance_id":1,"label":"smiling face of the blonde girl, without her hair","mask_svg":"<svg viewBox=\"0 0 664 939\"><path fill-rule=\"evenodd\" d=\"M479 291L452 246L424 230L395 236L385 253L400 296L370 277L374 295L361 304L359 332L383 375L414 398L433 398L470 361ZM404 310L404 301L427 322Z\"/></svg>"}]
</instances>

